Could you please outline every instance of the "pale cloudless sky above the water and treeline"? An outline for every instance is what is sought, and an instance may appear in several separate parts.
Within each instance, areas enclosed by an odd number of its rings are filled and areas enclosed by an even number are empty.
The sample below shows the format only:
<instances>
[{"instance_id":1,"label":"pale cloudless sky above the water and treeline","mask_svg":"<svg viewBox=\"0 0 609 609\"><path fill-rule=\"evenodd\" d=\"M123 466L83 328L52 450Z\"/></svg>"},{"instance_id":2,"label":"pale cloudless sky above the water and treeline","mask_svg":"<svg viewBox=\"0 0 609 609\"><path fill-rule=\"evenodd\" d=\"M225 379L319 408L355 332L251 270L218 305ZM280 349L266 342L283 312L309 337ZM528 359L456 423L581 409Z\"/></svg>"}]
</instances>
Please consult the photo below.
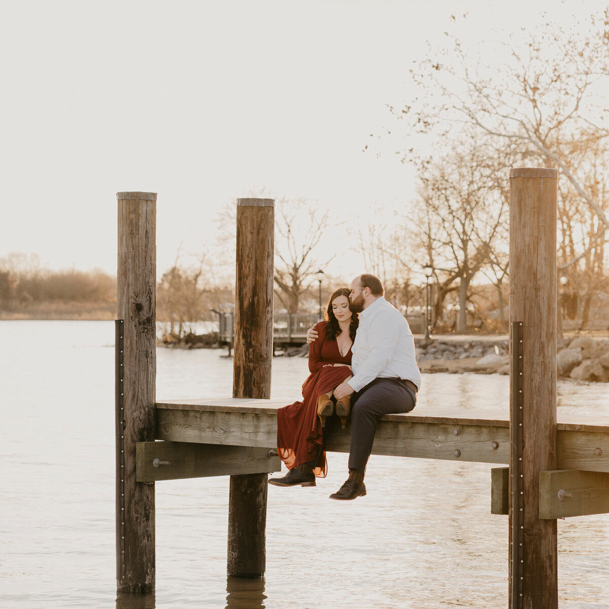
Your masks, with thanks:
<instances>
[{"instance_id":1,"label":"pale cloudless sky above the water and treeline","mask_svg":"<svg viewBox=\"0 0 609 609\"><path fill-rule=\"evenodd\" d=\"M412 200L390 150L362 152L407 69L451 13L464 38L518 31L582 0L0 3L0 258L116 272L116 192L158 192L157 267L213 242L217 209L252 189L321 199L329 272L361 272L345 228ZM497 58L501 61L501 58ZM393 144L395 146L395 143Z\"/></svg>"}]
</instances>

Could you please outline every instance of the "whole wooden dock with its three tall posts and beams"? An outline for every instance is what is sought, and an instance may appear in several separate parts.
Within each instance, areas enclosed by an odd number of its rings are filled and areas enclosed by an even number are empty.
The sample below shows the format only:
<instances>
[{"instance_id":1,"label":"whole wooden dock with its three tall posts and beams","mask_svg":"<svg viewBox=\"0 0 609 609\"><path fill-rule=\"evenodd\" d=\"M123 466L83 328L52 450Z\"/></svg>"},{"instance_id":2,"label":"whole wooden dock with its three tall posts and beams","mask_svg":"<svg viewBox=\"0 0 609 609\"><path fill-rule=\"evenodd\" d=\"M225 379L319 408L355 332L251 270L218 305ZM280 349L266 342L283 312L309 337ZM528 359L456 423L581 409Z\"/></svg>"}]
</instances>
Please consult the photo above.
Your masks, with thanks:
<instances>
[{"instance_id":1,"label":"whole wooden dock with its three tall posts and beams","mask_svg":"<svg viewBox=\"0 0 609 609\"><path fill-rule=\"evenodd\" d=\"M557 518L609 513L609 420L557 421L557 177L510 173L509 420L417 407L382 417L373 446L387 456L499 465L490 506L509 514L510 609L557 609ZM118 591L154 590L154 485L175 478L230 476L227 573L261 577L267 474L280 469L276 412L285 405L269 400L274 202L238 200L233 397L163 401L155 396L156 194L122 192L118 202ZM329 450L349 444L349 426L329 429Z\"/></svg>"}]
</instances>

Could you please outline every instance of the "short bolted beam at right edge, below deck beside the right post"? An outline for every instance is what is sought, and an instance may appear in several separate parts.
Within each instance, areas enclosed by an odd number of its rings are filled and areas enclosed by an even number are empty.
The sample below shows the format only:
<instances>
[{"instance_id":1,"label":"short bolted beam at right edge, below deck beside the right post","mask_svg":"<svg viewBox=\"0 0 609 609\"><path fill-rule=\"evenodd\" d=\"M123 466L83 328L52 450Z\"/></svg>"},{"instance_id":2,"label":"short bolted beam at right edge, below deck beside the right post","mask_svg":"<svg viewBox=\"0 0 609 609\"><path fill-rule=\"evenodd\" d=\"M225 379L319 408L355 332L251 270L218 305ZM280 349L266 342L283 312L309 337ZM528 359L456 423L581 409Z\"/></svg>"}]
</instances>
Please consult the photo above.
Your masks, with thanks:
<instances>
[{"instance_id":1,"label":"short bolted beam at right edge, below deck beside the right post","mask_svg":"<svg viewBox=\"0 0 609 609\"><path fill-rule=\"evenodd\" d=\"M539 517L609 513L609 473L553 470L539 473Z\"/></svg>"}]
</instances>

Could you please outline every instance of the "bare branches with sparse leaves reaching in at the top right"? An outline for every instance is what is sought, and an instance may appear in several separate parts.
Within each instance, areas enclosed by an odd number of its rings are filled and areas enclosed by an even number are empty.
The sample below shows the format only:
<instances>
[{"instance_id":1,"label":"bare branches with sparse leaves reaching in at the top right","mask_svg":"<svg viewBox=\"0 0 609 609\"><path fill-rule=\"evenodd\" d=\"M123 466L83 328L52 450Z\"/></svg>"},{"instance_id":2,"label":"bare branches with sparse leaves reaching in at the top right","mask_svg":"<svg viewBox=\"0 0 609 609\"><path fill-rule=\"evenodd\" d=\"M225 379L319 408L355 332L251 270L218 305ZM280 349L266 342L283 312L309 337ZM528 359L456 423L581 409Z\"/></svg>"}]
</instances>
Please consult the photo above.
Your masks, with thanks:
<instances>
[{"instance_id":1,"label":"bare branches with sparse leaves reaching in at the top right","mask_svg":"<svg viewBox=\"0 0 609 609\"><path fill-rule=\"evenodd\" d=\"M391 110L412 132L444 138L470 125L557 167L598 217L603 230L597 239L604 239L609 219L571 155L574 144L607 146L609 9L570 31L546 22L523 36L522 43L513 35L497 41L503 60L488 65L484 51L476 55L449 35L452 45L431 49L429 58L410 71L420 97Z\"/></svg>"}]
</instances>

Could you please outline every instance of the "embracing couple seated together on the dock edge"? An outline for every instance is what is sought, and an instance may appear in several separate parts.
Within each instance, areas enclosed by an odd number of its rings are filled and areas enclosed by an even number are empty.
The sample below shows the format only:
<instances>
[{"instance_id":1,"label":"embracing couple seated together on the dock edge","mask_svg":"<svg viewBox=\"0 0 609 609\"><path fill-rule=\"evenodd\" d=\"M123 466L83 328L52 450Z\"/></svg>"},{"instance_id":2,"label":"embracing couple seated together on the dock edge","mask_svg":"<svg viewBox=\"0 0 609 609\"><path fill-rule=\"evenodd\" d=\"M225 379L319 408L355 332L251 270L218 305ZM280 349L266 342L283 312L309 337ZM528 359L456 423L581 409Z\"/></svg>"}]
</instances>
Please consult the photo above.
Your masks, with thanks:
<instances>
[{"instance_id":1,"label":"embracing couple seated together on the dock edge","mask_svg":"<svg viewBox=\"0 0 609 609\"><path fill-rule=\"evenodd\" d=\"M331 295L326 321L309 329L311 375L303 384L303 401L277 414L277 446L289 471L269 484L314 487L315 477L325 477L323 432L326 418L336 412L343 429L351 414L351 449L349 477L330 499L366 494L376 420L410 412L421 386L408 322L383 295L378 277L357 276L350 289Z\"/></svg>"}]
</instances>

